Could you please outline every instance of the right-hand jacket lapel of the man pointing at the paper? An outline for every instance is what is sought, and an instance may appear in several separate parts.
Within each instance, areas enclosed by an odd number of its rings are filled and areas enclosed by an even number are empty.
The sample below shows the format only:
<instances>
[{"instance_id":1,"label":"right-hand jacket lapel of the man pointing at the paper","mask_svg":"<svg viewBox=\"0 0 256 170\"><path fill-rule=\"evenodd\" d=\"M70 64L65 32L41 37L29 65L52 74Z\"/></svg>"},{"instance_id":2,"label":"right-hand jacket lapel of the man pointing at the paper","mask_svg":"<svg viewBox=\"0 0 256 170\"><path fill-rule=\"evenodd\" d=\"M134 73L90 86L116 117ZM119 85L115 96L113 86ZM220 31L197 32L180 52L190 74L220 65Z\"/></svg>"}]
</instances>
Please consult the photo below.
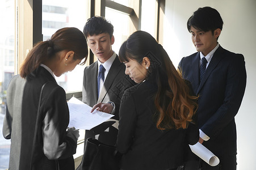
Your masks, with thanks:
<instances>
[{"instance_id":1,"label":"right-hand jacket lapel of the man pointing at the paper","mask_svg":"<svg viewBox=\"0 0 256 170\"><path fill-rule=\"evenodd\" d=\"M121 63L116 55L116 58L114 62L112 63L112 66L110 67L110 71L108 71L107 77L105 79L105 82L103 84L102 90L99 94L98 102L102 102L104 97L107 95L108 90L110 89L112 83L114 82L114 79L116 78L116 75L121 70L121 66L123 63Z\"/></svg>"}]
</instances>

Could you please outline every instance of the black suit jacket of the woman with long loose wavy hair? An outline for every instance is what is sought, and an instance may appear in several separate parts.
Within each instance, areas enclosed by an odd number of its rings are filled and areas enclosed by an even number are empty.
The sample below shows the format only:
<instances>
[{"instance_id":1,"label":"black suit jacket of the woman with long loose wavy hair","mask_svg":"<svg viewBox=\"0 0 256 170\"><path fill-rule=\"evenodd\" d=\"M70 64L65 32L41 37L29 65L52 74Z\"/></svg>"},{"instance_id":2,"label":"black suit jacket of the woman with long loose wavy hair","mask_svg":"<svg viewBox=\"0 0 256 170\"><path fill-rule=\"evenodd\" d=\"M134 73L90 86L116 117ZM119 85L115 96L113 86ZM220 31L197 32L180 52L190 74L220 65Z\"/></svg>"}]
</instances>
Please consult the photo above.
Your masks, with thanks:
<instances>
[{"instance_id":1,"label":"black suit jacket of the woman with long loose wavy hair","mask_svg":"<svg viewBox=\"0 0 256 170\"><path fill-rule=\"evenodd\" d=\"M117 150L123 154L121 169L169 169L185 160L188 144L198 142L195 124L188 129L159 130L154 114L157 84L146 80L125 91L121 100Z\"/></svg>"}]
</instances>

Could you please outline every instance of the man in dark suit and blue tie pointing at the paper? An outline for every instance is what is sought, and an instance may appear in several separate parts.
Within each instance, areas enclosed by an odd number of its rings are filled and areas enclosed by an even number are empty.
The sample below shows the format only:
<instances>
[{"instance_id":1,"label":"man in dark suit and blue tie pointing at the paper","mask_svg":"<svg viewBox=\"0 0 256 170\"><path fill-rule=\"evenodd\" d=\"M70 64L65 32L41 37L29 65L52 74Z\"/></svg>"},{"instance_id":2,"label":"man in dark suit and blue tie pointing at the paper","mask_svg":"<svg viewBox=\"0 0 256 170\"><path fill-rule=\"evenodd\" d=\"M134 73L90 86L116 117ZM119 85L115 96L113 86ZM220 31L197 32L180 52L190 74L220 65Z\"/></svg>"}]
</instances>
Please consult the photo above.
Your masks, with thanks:
<instances>
[{"instance_id":1,"label":"man in dark suit and blue tie pointing at the paper","mask_svg":"<svg viewBox=\"0 0 256 170\"><path fill-rule=\"evenodd\" d=\"M98 60L85 68L82 101L93 107L92 111L96 109L115 115L110 121L86 130L85 145L87 138L95 137L106 145L115 145L121 97L127 88L135 85L129 76L125 75L125 65L112 50L112 44L115 42L113 32L113 25L101 16L88 19L83 29L89 48ZM85 166L83 160L81 166Z\"/></svg>"}]
</instances>

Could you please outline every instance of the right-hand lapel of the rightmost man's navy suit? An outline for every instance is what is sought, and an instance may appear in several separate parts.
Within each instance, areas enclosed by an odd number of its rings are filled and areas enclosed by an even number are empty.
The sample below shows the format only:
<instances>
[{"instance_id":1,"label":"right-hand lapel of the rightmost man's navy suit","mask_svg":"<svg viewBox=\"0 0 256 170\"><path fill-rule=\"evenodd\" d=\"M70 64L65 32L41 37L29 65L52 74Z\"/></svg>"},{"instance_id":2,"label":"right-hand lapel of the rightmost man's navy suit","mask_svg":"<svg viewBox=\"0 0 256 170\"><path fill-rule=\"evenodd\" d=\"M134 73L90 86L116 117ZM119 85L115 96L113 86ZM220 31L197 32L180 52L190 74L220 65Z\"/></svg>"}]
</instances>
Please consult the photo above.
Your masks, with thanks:
<instances>
[{"instance_id":1,"label":"right-hand lapel of the rightmost man's navy suit","mask_svg":"<svg viewBox=\"0 0 256 170\"><path fill-rule=\"evenodd\" d=\"M219 46L219 48L213 54L211 62L209 63L207 69L205 70L202 82L200 83L198 91L196 92L196 94L199 94L199 91L203 87L203 85L206 82L206 80L208 79L209 75L212 73L212 71L216 68L217 64L223 58L222 53L223 53L223 48L221 46Z\"/></svg>"}]
</instances>

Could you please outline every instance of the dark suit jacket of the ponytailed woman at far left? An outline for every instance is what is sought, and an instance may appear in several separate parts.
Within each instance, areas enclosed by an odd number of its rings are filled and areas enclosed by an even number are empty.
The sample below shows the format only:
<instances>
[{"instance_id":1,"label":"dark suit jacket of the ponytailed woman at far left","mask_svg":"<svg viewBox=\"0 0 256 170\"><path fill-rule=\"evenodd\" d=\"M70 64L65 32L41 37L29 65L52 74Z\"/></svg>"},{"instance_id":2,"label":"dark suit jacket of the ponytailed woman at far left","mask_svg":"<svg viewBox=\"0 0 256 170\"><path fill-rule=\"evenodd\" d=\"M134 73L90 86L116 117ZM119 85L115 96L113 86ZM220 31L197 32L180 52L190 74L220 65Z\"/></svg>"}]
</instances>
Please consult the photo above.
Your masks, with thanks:
<instances>
[{"instance_id":1,"label":"dark suit jacket of the ponytailed woman at far left","mask_svg":"<svg viewBox=\"0 0 256 170\"><path fill-rule=\"evenodd\" d=\"M41 87L43 91L40 117L37 122L35 151L32 153L33 136ZM66 94L51 73L39 67L26 79L19 75L11 79L7 89L7 109L3 136L11 139L9 169L74 169L73 154L77 139L66 132L69 109Z\"/></svg>"}]
</instances>

